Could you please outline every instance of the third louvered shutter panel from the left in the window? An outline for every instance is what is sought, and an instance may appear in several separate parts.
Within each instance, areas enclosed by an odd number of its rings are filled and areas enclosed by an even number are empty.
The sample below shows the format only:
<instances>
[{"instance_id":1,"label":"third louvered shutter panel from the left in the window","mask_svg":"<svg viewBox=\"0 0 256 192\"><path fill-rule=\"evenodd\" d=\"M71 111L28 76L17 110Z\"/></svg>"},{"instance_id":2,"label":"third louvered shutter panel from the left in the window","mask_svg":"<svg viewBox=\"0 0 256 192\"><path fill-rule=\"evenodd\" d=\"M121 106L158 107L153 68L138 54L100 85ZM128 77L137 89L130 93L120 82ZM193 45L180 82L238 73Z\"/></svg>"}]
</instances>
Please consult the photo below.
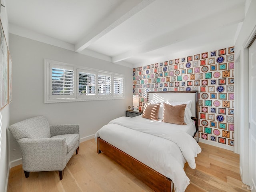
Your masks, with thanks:
<instances>
[{"instance_id":1,"label":"third louvered shutter panel from the left in the window","mask_svg":"<svg viewBox=\"0 0 256 192\"><path fill-rule=\"evenodd\" d=\"M111 94L111 76L98 75L98 94L110 95Z\"/></svg>"}]
</instances>

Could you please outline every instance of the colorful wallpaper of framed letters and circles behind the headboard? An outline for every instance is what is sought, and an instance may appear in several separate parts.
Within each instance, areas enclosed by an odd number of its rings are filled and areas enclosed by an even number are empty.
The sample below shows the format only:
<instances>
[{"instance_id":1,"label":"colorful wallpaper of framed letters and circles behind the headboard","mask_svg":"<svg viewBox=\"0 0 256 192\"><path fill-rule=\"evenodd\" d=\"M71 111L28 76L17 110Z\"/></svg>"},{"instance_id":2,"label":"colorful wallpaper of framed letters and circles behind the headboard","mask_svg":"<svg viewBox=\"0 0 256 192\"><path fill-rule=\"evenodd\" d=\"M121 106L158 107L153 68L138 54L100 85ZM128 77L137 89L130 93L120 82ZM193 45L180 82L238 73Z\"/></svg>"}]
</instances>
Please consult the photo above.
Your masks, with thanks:
<instances>
[{"instance_id":1,"label":"colorful wallpaper of framed letters and circles behind the headboard","mask_svg":"<svg viewBox=\"0 0 256 192\"><path fill-rule=\"evenodd\" d=\"M199 137L234 146L234 47L133 69L139 110L148 91L199 92Z\"/></svg>"}]
</instances>

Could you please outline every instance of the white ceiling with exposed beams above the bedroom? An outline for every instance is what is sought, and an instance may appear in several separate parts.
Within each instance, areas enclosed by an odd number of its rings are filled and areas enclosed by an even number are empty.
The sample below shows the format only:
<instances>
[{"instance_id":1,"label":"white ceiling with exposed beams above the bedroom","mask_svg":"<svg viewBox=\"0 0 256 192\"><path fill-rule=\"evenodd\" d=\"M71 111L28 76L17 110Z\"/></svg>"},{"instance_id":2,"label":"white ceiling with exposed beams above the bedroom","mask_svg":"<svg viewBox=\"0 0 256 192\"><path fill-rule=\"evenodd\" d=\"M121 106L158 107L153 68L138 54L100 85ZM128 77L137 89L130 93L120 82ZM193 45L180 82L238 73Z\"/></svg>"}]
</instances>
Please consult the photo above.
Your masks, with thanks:
<instances>
[{"instance_id":1,"label":"white ceiling with exposed beams above the bedroom","mask_svg":"<svg viewBox=\"0 0 256 192\"><path fill-rule=\"evenodd\" d=\"M245 0L6 1L10 33L129 67L234 45L244 5Z\"/></svg>"}]
</instances>

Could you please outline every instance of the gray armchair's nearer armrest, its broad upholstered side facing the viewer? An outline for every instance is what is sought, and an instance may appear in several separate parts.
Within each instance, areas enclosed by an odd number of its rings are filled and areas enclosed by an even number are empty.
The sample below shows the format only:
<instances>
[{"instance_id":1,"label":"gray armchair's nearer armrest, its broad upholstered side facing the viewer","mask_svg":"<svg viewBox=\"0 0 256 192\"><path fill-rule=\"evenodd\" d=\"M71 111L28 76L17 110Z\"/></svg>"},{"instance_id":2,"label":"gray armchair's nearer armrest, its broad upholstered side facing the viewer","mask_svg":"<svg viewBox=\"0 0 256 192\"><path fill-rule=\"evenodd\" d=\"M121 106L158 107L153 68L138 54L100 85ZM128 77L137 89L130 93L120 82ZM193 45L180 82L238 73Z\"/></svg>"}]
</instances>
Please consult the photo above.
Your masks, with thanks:
<instances>
[{"instance_id":1,"label":"gray armchair's nearer armrest, its broad upholstered side facing the viewer","mask_svg":"<svg viewBox=\"0 0 256 192\"><path fill-rule=\"evenodd\" d=\"M67 163L65 138L22 138L18 144L25 171L64 170Z\"/></svg>"}]
</instances>

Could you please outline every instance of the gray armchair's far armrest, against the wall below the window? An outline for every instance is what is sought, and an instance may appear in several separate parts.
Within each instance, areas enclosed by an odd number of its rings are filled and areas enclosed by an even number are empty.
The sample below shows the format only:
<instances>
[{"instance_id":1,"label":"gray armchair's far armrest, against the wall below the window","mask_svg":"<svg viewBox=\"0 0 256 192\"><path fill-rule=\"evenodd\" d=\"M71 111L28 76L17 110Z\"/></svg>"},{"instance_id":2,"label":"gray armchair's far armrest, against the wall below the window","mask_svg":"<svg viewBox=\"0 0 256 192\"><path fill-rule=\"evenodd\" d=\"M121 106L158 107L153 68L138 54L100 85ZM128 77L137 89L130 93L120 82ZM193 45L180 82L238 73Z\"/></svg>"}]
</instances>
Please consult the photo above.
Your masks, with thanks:
<instances>
[{"instance_id":1,"label":"gray armchair's far armrest, against the wall below the window","mask_svg":"<svg viewBox=\"0 0 256 192\"><path fill-rule=\"evenodd\" d=\"M79 134L79 124L50 125L51 137L64 134Z\"/></svg>"}]
</instances>

